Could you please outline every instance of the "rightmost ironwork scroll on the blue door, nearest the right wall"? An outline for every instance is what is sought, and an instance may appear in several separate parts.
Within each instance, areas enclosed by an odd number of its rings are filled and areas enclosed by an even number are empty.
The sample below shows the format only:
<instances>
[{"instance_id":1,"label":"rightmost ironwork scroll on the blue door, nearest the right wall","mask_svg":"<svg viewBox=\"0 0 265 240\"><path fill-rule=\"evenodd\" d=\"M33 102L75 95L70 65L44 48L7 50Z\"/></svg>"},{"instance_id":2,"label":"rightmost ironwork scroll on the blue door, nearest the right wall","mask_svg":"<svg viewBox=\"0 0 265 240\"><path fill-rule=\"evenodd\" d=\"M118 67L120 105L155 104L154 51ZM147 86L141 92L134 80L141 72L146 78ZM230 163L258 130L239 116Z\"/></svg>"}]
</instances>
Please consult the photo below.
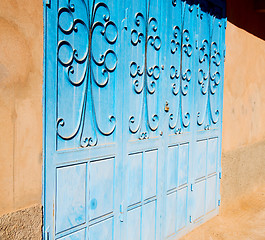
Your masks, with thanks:
<instances>
[{"instance_id":1,"label":"rightmost ironwork scroll on the blue door, nearest the right wall","mask_svg":"<svg viewBox=\"0 0 265 240\"><path fill-rule=\"evenodd\" d=\"M201 15L201 18L203 15ZM217 94L218 86L221 80L220 64L221 54L219 52L218 43L213 40L213 32L215 21L213 18L212 33L210 36L210 43L204 39L199 48L199 70L198 70L198 84L200 92L205 96L205 106L202 111L197 112L197 124L199 126L205 123L204 129L209 130L211 124L216 124L219 120L219 109L213 104L213 97ZM218 23L218 28L221 28L221 22ZM205 66L205 67L203 67ZM205 70L206 69L206 70ZM206 116L208 112L208 119Z\"/></svg>"}]
</instances>

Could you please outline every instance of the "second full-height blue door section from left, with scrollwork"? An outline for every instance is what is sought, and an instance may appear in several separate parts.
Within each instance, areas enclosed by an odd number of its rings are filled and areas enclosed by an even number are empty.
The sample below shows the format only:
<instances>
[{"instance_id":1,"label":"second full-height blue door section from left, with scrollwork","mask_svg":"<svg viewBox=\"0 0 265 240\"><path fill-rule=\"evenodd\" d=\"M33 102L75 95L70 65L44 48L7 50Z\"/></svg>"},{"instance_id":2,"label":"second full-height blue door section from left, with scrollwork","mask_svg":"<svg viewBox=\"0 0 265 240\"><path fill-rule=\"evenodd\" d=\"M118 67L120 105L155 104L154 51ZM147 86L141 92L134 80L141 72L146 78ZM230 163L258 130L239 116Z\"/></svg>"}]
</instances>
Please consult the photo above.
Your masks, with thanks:
<instances>
[{"instance_id":1,"label":"second full-height blue door section from left, with scrollwork","mask_svg":"<svg viewBox=\"0 0 265 240\"><path fill-rule=\"evenodd\" d=\"M124 231L122 239L159 238L161 1L125 2ZM132 227L134 226L134 227Z\"/></svg>"}]
</instances>

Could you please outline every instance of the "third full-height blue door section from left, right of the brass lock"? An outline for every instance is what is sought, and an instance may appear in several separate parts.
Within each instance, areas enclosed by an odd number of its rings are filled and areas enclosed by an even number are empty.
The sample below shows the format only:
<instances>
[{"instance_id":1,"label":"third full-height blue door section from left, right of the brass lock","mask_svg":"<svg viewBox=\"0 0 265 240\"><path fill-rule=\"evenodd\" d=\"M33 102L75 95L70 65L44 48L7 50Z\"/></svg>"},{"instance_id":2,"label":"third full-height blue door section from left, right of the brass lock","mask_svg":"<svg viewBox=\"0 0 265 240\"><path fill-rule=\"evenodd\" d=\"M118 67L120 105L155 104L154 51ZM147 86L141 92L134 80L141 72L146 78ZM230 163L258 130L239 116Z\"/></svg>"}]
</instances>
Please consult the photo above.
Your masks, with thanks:
<instances>
[{"instance_id":1,"label":"third full-height blue door section from left, right of the brass lock","mask_svg":"<svg viewBox=\"0 0 265 240\"><path fill-rule=\"evenodd\" d=\"M165 70L165 170L163 239L175 238L190 226L195 87L195 6L165 1L163 30Z\"/></svg>"}]
</instances>

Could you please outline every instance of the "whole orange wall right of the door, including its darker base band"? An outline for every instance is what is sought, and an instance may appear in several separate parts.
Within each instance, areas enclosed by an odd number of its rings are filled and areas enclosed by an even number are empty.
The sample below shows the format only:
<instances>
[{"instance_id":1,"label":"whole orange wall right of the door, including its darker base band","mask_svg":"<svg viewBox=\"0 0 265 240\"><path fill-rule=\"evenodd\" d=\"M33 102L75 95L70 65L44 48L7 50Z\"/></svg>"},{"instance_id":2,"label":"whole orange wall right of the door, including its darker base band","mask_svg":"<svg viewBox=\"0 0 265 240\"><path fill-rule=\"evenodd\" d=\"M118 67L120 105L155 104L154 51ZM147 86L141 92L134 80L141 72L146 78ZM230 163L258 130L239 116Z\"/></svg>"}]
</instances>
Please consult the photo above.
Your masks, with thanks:
<instances>
[{"instance_id":1,"label":"whole orange wall right of the door, including its darker base band","mask_svg":"<svg viewBox=\"0 0 265 240\"><path fill-rule=\"evenodd\" d=\"M264 29L264 21L254 24L256 33L258 27ZM224 209L265 185L265 39L228 22L226 46L221 181Z\"/></svg>"}]
</instances>

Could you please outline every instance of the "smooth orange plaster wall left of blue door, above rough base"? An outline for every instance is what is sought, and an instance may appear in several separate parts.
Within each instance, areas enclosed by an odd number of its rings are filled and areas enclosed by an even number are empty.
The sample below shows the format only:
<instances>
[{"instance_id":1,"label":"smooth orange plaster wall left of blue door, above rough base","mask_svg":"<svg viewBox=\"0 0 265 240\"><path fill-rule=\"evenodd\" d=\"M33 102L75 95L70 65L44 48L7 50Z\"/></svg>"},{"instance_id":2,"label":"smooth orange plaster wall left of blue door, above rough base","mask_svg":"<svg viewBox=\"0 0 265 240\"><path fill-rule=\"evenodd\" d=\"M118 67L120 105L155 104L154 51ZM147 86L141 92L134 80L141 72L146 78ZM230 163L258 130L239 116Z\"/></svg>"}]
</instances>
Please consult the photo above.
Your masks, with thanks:
<instances>
[{"instance_id":1,"label":"smooth orange plaster wall left of blue door, above rough base","mask_svg":"<svg viewBox=\"0 0 265 240\"><path fill-rule=\"evenodd\" d=\"M0 216L41 203L42 11L0 0Z\"/></svg>"}]
</instances>

